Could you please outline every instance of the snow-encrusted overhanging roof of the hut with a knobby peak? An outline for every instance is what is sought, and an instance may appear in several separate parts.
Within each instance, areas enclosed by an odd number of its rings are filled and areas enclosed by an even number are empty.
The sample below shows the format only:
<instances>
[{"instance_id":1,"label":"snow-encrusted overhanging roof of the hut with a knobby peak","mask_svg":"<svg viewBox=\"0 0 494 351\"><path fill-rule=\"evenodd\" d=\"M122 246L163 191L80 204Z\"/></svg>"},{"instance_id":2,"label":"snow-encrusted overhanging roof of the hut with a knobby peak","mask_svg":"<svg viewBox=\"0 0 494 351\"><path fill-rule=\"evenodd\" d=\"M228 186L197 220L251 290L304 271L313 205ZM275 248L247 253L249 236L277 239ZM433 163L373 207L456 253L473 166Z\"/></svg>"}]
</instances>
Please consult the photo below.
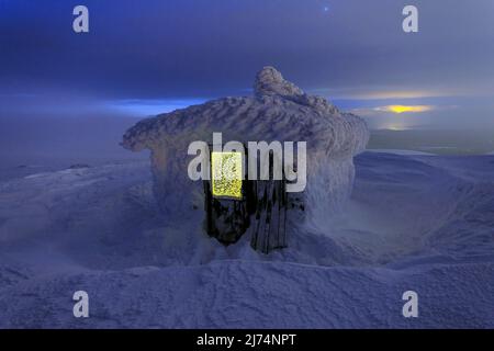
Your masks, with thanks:
<instances>
[{"instance_id":1,"label":"snow-encrusted overhanging roof of the hut with a knobby peak","mask_svg":"<svg viewBox=\"0 0 494 351\"><path fill-rule=\"evenodd\" d=\"M352 156L366 148L369 132L360 117L340 112L326 99L304 93L273 67L257 73L254 97L223 98L138 122L122 145L186 148L193 140L211 141L213 132L238 141L307 141L308 152Z\"/></svg>"}]
</instances>

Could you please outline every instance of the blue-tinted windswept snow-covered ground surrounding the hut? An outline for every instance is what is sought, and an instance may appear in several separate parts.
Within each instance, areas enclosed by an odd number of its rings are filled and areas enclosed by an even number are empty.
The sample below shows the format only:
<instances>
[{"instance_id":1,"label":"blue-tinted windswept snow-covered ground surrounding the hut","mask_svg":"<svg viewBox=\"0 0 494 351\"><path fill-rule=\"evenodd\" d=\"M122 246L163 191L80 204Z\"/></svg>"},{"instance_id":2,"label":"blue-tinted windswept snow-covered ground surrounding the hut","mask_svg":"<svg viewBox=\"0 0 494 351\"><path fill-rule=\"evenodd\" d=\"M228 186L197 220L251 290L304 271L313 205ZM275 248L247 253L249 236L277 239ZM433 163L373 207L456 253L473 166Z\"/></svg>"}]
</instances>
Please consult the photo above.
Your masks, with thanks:
<instances>
[{"instance_id":1,"label":"blue-tinted windswept snow-covered ground surrounding the hut","mask_svg":"<svg viewBox=\"0 0 494 351\"><path fill-rule=\"evenodd\" d=\"M398 154L358 156L347 211L269 256L161 215L147 161L5 169L0 328L494 328L494 156Z\"/></svg>"}]
</instances>

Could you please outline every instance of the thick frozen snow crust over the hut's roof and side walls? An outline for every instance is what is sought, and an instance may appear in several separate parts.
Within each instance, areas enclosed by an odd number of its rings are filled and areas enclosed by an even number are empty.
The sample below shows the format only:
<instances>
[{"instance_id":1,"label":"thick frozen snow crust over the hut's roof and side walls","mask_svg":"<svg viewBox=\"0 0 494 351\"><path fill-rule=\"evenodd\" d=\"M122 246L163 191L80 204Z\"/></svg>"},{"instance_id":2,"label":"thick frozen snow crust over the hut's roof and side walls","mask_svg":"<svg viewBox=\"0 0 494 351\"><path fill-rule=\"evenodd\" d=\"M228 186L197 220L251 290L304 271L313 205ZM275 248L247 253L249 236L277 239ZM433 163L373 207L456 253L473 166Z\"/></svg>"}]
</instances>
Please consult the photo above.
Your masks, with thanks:
<instances>
[{"instance_id":1,"label":"thick frozen snow crust over the hut's roof and side walls","mask_svg":"<svg viewBox=\"0 0 494 351\"><path fill-rule=\"evenodd\" d=\"M305 218L321 219L349 197L352 157L363 151L369 131L362 118L310 95L272 67L258 72L254 97L223 98L146 118L123 136L123 147L151 151L154 193L169 218L202 208L202 183L188 178L191 141L306 141Z\"/></svg>"}]
</instances>

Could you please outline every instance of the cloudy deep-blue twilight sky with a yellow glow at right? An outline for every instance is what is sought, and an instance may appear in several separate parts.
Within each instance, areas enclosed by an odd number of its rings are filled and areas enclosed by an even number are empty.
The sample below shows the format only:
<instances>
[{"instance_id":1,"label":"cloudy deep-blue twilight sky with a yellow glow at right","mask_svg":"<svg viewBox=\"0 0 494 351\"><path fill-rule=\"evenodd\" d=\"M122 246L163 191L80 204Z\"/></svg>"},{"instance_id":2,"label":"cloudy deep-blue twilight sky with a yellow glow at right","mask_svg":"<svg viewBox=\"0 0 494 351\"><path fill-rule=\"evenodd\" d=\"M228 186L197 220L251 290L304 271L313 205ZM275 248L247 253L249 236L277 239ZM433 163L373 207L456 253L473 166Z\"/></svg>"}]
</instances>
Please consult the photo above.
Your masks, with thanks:
<instances>
[{"instance_id":1,"label":"cloudy deep-blue twilight sky with a yellow glow at right","mask_svg":"<svg viewBox=\"0 0 494 351\"><path fill-rule=\"evenodd\" d=\"M0 0L0 118L144 116L250 94L272 65L374 128L494 129L493 63L492 0Z\"/></svg>"}]
</instances>

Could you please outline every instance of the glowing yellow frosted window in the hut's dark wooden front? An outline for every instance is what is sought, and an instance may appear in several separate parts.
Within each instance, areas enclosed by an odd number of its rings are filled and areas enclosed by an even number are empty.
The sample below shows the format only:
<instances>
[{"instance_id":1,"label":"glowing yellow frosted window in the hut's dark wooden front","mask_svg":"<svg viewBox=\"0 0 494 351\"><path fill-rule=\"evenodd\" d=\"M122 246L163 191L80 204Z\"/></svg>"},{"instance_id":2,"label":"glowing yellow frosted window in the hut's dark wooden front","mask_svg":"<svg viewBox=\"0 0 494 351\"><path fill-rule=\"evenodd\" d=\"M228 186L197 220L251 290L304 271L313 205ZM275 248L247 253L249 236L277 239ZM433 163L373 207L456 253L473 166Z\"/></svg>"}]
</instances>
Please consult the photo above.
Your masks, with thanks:
<instances>
[{"instance_id":1,"label":"glowing yellow frosted window in the hut's dark wooden front","mask_svg":"<svg viewBox=\"0 0 494 351\"><path fill-rule=\"evenodd\" d=\"M242 152L211 152L213 196L242 199Z\"/></svg>"}]
</instances>

